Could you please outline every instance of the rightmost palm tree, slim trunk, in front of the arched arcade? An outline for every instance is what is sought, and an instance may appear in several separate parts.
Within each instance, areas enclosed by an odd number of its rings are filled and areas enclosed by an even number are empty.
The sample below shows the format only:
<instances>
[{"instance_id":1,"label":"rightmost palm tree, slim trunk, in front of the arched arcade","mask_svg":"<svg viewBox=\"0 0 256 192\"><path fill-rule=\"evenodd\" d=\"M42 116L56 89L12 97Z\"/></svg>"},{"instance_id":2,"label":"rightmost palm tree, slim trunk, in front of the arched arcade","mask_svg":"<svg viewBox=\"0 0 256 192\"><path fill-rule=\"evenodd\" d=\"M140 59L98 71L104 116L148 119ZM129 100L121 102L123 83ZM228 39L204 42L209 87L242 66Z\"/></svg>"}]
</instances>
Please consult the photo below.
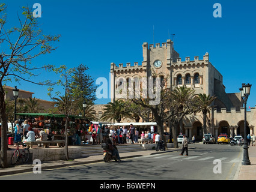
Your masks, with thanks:
<instances>
[{"instance_id":1,"label":"rightmost palm tree, slim trunk, in front of the arched arcade","mask_svg":"<svg viewBox=\"0 0 256 192\"><path fill-rule=\"evenodd\" d=\"M197 98L198 98L197 102L198 102L198 107L199 107L197 112L203 113L203 116L204 116L203 130L204 130L204 133L206 133L206 116L207 116L207 113L210 114L210 110L212 110L212 108L214 107L211 104L217 97L214 97L214 96L210 97L210 95L206 95L206 94L198 94Z\"/></svg>"}]
</instances>

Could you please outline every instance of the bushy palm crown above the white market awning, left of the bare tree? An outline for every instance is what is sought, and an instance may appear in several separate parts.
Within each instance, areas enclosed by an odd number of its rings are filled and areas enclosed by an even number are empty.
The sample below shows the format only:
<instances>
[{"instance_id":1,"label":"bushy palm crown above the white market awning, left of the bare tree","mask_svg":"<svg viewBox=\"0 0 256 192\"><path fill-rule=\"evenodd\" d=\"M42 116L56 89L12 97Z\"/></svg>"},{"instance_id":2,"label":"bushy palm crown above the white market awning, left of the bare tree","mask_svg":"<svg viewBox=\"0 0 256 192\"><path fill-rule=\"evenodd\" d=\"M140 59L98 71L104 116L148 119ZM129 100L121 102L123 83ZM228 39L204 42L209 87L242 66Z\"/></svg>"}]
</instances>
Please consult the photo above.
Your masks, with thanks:
<instances>
[{"instance_id":1,"label":"bushy palm crown above the white market awning, left of the bare tree","mask_svg":"<svg viewBox=\"0 0 256 192\"><path fill-rule=\"evenodd\" d=\"M121 122L123 118L133 118L132 113L126 108L125 103L121 100L109 102L104 107L106 107L102 115L103 121L112 121L114 119L117 122Z\"/></svg>"}]
</instances>

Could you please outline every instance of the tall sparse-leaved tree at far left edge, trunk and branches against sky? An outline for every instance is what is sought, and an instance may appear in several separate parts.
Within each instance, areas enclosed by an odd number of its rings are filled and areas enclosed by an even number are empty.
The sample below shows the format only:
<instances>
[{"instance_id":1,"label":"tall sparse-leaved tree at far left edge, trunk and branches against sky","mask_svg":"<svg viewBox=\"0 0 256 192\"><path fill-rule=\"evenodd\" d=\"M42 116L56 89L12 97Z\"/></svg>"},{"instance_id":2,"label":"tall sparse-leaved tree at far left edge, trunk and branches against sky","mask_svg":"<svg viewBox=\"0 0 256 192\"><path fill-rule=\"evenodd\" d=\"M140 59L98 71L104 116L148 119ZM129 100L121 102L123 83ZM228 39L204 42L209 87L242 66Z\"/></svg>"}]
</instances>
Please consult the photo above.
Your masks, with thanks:
<instances>
[{"instance_id":1,"label":"tall sparse-leaved tree at far left edge, trunk and branches against sky","mask_svg":"<svg viewBox=\"0 0 256 192\"><path fill-rule=\"evenodd\" d=\"M6 80L25 80L38 85L46 85L49 80L35 82L29 80L29 77L35 77L38 70L49 70L50 65L43 67L33 67L32 59L40 55L52 52L56 48L52 46L59 40L59 35L44 35L43 30L39 28L37 18L32 16L31 8L23 7L23 19L18 16L19 25L11 29L5 28L7 23L7 6L0 4L0 118L2 122L2 140L1 140L1 164L2 167L8 167L7 163L7 115L6 104L4 101L3 83Z\"/></svg>"}]
</instances>

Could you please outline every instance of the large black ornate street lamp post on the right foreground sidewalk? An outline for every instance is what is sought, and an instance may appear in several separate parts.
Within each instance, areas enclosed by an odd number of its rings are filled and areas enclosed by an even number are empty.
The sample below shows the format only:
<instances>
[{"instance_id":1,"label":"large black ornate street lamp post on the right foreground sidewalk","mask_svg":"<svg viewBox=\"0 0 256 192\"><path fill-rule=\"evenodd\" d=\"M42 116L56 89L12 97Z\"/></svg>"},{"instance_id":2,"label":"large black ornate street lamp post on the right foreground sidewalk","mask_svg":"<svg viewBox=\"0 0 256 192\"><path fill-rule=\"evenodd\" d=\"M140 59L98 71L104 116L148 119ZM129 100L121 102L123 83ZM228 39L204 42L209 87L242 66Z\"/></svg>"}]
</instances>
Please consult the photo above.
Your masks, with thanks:
<instances>
[{"instance_id":1,"label":"large black ornate street lamp post on the right foreground sidewalk","mask_svg":"<svg viewBox=\"0 0 256 192\"><path fill-rule=\"evenodd\" d=\"M242 165L250 165L251 162L249 160L249 153L248 153L248 139L247 139L247 130L246 130L246 103L248 100L248 97L250 95L250 91L251 91L251 86L249 83L245 85L245 83L242 84L242 88L240 88L240 92L241 92L241 97L243 100L243 104L245 107L245 125L244 125L244 134L245 134L245 139L244 139L244 143L243 143L243 161L242 161Z\"/></svg>"}]
</instances>

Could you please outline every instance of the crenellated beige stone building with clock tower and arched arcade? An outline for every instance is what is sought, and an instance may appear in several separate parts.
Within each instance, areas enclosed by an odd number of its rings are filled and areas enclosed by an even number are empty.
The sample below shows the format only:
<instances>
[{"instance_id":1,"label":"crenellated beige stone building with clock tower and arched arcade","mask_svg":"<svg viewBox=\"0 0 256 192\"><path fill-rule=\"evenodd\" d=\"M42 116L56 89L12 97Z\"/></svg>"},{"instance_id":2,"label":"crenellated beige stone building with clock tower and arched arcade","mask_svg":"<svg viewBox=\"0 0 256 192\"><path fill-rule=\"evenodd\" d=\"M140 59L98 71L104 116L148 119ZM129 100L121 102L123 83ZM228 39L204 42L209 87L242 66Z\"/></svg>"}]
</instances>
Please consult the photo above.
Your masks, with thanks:
<instances>
[{"instance_id":1,"label":"crenellated beige stone building with clock tower and arched arcade","mask_svg":"<svg viewBox=\"0 0 256 192\"><path fill-rule=\"evenodd\" d=\"M194 56L194 59L186 57L181 61L178 52L174 50L173 42L167 40L166 43L142 44L143 61L139 65L127 63L126 66L119 64L118 66L111 63L111 101L117 99L115 91L120 86L120 79L129 82L129 79L152 77L152 71L156 74L162 73L164 77L168 77L167 88L175 88L177 86L187 86L195 90L196 94L204 93L207 95L215 95L217 99L213 105L214 110L207 115L207 132L215 134L216 137L220 133L227 133L230 136L242 134L243 136L243 119L244 110L242 108L242 100L240 93L226 93L223 85L222 74L212 65L209 59L209 53L200 59ZM157 64L158 62L158 64ZM98 107L99 108L99 107ZM102 112L102 109L98 109ZM97 113L97 110L96 110ZM247 122L249 132L255 132L255 107L247 112ZM194 114L186 116L181 125L181 131L187 136L201 139L203 137L203 115Z\"/></svg>"}]
</instances>

